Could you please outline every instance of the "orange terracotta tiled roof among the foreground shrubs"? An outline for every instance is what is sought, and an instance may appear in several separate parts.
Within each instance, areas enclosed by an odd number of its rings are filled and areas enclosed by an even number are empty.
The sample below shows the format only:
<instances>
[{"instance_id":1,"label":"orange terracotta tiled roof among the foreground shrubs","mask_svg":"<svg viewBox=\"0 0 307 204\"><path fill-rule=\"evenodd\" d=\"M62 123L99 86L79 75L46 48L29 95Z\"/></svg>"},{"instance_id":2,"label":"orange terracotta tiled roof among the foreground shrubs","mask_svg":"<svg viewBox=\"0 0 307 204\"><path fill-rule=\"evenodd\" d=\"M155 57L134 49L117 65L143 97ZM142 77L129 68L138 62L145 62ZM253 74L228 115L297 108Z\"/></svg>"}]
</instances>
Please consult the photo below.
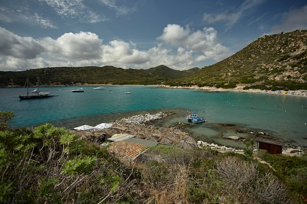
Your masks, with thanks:
<instances>
[{"instance_id":1,"label":"orange terracotta tiled roof among the foreground shrubs","mask_svg":"<svg viewBox=\"0 0 307 204\"><path fill-rule=\"evenodd\" d=\"M147 148L146 145L136 144L124 140L112 143L107 148L107 150L109 152L113 152L118 157L129 156L133 160L137 156L139 156L146 148Z\"/></svg>"}]
</instances>

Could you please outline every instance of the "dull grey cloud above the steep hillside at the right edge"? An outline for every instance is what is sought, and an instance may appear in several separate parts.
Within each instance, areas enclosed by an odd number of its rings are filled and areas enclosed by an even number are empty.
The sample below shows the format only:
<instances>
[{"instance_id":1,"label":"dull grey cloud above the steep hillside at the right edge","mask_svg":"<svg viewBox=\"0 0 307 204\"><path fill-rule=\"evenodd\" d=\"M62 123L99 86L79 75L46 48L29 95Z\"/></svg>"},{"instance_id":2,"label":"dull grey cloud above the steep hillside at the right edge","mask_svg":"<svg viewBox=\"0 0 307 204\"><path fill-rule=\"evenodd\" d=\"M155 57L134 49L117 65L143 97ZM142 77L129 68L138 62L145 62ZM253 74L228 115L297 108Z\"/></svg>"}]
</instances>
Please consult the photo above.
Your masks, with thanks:
<instances>
[{"instance_id":1,"label":"dull grey cloud above the steep hillside at the right edge","mask_svg":"<svg viewBox=\"0 0 307 204\"><path fill-rule=\"evenodd\" d=\"M307 5L283 13L281 16L281 24L272 27L274 33L291 32L298 29L307 29Z\"/></svg>"}]
</instances>

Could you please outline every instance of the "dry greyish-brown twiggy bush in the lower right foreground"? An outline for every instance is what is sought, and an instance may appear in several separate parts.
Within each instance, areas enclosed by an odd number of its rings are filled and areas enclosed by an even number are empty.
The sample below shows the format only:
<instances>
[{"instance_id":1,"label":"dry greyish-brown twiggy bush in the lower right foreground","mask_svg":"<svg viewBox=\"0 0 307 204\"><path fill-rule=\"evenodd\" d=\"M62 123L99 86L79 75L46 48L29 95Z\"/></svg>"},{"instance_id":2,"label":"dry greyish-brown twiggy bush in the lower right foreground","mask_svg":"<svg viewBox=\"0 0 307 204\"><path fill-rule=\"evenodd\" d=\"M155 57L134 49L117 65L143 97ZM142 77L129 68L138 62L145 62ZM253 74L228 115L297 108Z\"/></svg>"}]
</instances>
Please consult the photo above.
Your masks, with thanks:
<instances>
[{"instance_id":1,"label":"dry greyish-brown twiggy bush in the lower right foreground","mask_svg":"<svg viewBox=\"0 0 307 204\"><path fill-rule=\"evenodd\" d=\"M239 203L289 203L287 189L271 173L259 175L257 164L237 158L217 162L218 178L228 198Z\"/></svg>"}]
</instances>

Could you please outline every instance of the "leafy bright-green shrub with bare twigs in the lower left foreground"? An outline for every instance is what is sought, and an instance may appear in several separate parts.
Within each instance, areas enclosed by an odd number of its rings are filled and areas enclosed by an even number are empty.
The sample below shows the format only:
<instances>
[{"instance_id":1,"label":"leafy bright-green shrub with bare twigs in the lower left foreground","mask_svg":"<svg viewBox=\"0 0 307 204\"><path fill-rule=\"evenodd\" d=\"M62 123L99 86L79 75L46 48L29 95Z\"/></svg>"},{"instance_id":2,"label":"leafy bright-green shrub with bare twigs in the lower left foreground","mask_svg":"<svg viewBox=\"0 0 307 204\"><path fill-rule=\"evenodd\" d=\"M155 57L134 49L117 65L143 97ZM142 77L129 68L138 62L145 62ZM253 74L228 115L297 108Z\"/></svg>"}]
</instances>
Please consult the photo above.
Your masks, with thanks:
<instances>
[{"instance_id":1,"label":"leafy bright-green shrub with bare twigs in the lower left foreground","mask_svg":"<svg viewBox=\"0 0 307 204\"><path fill-rule=\"evenodd\" d=\"M0 132L0 203L131 202L132 174L105 148L64 128Z\"/></svg>"}]
</instances>

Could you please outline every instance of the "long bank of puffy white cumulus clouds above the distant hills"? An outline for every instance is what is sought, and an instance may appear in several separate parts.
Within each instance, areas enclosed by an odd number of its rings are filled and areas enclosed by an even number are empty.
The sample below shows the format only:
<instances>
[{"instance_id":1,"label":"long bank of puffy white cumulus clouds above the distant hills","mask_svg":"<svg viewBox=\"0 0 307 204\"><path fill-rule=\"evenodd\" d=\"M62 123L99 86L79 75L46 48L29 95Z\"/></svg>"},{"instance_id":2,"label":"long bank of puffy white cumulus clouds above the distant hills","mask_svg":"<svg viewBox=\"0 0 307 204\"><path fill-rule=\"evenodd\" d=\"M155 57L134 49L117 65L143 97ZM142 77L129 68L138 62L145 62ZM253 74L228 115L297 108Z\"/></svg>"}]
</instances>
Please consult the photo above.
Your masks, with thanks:
<instances>
[{"instance_id":1,"label":"long bank of puffy white cumulus clouds above the distant hills","mask_svg":"<svg viewBox=\"0 0 307 204\"><path fill-rule=\"evenodd\" d=\"M205 27L192 32L176 24L168 25L159 37L162 43L148 50L138 50L137 44L131 41L103 43L92 32L64 33L57 39L33 39L0 27L0 35L0 70L105 65L120 68L165 65L184 70L197 67L195 63L201 60L220 60L230 55L229 48L217 43L215 29ZM177 52L164 48L166 44L176 46Z\"/></svg>"}]
</instances>

